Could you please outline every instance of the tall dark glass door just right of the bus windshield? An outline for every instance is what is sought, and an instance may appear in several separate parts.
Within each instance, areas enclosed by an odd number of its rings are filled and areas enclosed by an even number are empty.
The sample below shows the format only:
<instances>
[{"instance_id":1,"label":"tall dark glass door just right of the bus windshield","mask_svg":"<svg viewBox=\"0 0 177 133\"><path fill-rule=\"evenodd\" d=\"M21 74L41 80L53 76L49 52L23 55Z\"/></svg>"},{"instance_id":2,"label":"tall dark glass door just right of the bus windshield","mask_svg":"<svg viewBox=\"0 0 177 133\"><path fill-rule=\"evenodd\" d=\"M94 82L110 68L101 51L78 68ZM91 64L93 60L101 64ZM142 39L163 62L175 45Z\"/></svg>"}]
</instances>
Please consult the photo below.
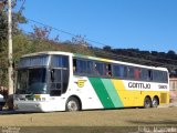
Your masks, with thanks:
<instances>
[{"instance_id":1,"label":"tall dark glass door just right of the bus windshield","mask_svg":"<svg viewBox=\"0 0 177 133\"><path fill-rule=\"evenodd\" d=\"M52 57L50 76L50 95L60 96L65 93L69 84L69 57Z\"/></svg>"}]
</instances>

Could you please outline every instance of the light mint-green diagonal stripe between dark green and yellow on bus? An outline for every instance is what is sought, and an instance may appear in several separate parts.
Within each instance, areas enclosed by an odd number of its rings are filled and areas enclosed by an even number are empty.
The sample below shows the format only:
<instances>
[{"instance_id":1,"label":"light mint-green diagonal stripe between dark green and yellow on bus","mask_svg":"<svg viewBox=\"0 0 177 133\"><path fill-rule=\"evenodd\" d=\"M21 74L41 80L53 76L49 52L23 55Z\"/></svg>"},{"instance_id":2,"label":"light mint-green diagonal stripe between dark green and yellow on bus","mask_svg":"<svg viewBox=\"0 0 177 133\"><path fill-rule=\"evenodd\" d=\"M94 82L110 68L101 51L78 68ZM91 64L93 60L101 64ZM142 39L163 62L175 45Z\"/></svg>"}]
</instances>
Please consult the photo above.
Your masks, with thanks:
<instances>
[{"instance_id":1,"label":"light mint-green diagonal stripe between dark green and yellow on bus","mask_svg":"<svg viewBox=\"0 0 177 133\"><path fill-rule=\"evenodd\" d=\"M103 79L102 82L103 82L110 98L112 99L114 106L115 108L123 108L123 103L122 103L119 95L118 95L116 89L114 88L112 81L110 79Z\"/></svg>"}]
</instances>

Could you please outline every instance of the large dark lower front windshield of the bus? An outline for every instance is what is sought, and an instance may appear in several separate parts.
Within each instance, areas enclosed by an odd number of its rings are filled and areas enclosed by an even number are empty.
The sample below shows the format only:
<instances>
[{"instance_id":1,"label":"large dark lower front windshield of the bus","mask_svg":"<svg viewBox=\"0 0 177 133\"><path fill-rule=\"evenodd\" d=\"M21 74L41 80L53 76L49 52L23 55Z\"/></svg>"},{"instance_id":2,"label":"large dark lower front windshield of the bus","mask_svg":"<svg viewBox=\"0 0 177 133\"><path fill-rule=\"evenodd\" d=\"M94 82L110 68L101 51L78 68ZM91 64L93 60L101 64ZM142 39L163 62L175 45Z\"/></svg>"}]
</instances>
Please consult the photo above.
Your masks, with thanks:
<instances>
[{"instance_id":1,"label":"large dark lower front windshield of the bus","mask_svg":"<svg viewBox=\"0 0 177 133\"><path fill-rule=\"evenodd\" d=\"M46 69L21 69L18 71L17 94L45 94Z\"/></svg>"}]
</instances>

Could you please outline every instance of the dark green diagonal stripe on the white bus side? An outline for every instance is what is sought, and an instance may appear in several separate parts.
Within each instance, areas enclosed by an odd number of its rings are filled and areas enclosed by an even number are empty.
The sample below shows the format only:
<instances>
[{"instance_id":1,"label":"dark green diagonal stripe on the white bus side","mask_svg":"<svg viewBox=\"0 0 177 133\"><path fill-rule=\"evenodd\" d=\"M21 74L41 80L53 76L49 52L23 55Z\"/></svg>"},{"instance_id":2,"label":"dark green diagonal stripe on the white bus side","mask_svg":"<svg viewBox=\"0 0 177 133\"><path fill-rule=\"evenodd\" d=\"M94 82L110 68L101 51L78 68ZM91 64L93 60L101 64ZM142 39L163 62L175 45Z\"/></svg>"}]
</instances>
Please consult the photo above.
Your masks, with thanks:
<instances>
[{"instance_id":1,"label":"dark green diagonal stripe on the white bus side","mask_svg":"<svg viewBox=\"0 0 177 133\"><path fill-rule=\"evenodd\" d=\"M101 79L98 78L90 78L90 82L93 86L93 89L95 90L100 101L102 102L103 106L105 109L111 109L111 108L115 108L112 99L110 98L103 82Z\"/></svg>"}]
</instances>

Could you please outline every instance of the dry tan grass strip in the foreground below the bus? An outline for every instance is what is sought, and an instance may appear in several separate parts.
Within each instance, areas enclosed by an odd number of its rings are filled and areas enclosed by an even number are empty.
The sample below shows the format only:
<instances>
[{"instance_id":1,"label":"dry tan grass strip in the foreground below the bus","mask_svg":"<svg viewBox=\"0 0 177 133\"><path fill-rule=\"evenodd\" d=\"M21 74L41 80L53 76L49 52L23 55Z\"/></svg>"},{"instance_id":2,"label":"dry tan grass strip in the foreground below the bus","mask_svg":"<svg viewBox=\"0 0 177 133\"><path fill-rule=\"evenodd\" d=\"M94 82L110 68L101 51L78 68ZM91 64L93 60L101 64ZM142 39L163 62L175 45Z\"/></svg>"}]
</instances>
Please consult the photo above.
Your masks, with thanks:
<instances>
[{"instance_id":1,"label":"dry tan grass strip in the foreground below the bus","mask_svg":"<svg viewBox=\"0 0 177 133\"><path fill-rule=\"evenodd\" d=\"M177 108L2 114L0 126L177 126Z\"/></svg>"}]
</instances>

